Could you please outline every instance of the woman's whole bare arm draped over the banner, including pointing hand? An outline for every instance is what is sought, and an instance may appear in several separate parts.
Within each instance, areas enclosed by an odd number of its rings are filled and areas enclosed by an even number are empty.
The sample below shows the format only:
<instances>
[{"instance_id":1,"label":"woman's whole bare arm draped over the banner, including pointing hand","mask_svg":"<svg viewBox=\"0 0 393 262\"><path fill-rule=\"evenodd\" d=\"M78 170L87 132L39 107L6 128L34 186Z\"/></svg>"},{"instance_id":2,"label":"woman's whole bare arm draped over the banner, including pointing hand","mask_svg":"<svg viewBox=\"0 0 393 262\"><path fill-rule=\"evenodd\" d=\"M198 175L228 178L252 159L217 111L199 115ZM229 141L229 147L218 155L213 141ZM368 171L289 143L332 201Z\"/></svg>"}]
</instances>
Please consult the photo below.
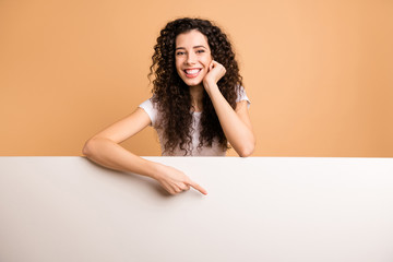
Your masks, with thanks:
<instances>
[{"instance_id":1,"label":"woman's whole bare arm draped over the banner, including pointing hand","mask_svg":"<svg viewBox=\"0 0 393 262\"><path fill-rule=\"evenodd\" d=\"M83 154L102 166L156 179L170 194L189 190L190 187L206 194L206 190L193 182L182 171L146 160L119 145L119 143L136 134L150 123L148 115L142 108L138 108L130 116L90 139L83 147Z\"/></svg>"}]
</instances>

